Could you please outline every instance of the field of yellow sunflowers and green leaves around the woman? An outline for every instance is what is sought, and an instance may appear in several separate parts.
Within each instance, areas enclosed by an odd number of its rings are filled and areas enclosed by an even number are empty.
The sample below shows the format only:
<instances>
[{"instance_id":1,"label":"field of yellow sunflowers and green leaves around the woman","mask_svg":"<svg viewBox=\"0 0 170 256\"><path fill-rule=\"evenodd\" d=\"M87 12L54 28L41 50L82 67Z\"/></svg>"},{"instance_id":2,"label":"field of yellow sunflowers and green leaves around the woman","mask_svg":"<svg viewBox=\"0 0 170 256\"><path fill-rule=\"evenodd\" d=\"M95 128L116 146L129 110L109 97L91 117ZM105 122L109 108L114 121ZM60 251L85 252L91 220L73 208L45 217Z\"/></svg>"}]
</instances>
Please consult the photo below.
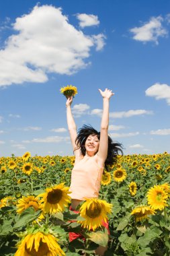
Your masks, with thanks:
<instances>
[{"instance_id":1,"label":"field of yellow sunflowers and green leaves around the woman","mask_svg":"<svg viewBox=\"0 0 170 256\"><path fill-rule=\"evenodd\" d=\"M170 154L118 156L71 210L73 156L0 158L0 255L170 255ZM109 224L109 230L101 223ZM70 235L79 234L71 241Z\"/></svg>"}]
</instances>

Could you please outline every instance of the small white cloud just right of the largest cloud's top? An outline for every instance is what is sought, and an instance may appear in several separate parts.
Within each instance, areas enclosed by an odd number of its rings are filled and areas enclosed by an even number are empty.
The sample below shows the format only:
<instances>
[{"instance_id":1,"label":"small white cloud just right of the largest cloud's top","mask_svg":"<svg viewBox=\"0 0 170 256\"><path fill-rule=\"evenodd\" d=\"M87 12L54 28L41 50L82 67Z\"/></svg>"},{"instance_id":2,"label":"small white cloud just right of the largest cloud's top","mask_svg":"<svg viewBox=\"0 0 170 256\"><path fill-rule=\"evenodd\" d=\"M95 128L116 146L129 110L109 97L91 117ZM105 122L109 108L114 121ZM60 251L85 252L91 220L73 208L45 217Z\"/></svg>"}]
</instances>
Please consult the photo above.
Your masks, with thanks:
<instances>
[{"instance_id":1,"label":"small white cloud just right of the largest cloud's top","mask_svg":"<svg viewBox=\"0 0 170 256\"><path fill-rule=\"evenodd\" d=\"M99 25L99 20L97 15L80 13L80 14L77 14L77 19L80 21L79 26L81 26L81 28L85 28L87 26Z\"/></svg>"}]
</instances>

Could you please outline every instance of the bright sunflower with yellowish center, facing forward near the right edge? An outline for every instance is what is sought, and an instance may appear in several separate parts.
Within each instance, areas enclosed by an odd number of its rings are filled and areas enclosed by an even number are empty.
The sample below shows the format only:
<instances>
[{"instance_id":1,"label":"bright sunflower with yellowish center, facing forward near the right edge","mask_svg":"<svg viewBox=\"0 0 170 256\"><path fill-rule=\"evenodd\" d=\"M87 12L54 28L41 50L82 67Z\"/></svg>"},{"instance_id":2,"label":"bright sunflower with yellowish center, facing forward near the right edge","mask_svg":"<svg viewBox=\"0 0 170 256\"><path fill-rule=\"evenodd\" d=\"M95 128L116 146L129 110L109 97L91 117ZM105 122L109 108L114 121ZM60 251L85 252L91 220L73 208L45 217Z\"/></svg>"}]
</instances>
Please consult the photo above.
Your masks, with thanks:
<instances>
[{"instance_id":1,"label":"bright sunflower with yellowish center, facing forward near the right edge","mask_svg":"<svg viewBox=\"0 0 170 256\"><path fill-rule=\"evenodd\" d=\"M155 185L148 190L146 195L148 197L148 205L151 205L153 210L163 210L167 206L168 193L161 185Z\"/></svg>"}]
</instances>

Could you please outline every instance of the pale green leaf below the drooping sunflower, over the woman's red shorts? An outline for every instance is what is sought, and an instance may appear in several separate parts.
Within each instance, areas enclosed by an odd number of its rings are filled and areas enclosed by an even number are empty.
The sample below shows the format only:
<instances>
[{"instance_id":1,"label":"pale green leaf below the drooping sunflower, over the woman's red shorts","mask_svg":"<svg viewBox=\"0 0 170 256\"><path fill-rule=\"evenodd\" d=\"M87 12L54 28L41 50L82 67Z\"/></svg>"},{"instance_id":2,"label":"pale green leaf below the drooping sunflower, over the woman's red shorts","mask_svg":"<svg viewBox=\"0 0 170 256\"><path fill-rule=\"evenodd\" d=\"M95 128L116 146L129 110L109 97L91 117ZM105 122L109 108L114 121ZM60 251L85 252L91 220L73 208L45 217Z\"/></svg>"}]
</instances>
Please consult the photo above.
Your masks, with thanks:
<instances>
[{"instance_id":1,"label":"pale green leaf below the drooping sunflower, over the woman's red shorts","mask_svg":"<svg viewBox=\"0 0 170 256\"><path fill-rule=\"evenodd\" d=\"M90 232L87 239L103 247L108 245L108 234L103 231Z\"/></svg>"}]
</instances>

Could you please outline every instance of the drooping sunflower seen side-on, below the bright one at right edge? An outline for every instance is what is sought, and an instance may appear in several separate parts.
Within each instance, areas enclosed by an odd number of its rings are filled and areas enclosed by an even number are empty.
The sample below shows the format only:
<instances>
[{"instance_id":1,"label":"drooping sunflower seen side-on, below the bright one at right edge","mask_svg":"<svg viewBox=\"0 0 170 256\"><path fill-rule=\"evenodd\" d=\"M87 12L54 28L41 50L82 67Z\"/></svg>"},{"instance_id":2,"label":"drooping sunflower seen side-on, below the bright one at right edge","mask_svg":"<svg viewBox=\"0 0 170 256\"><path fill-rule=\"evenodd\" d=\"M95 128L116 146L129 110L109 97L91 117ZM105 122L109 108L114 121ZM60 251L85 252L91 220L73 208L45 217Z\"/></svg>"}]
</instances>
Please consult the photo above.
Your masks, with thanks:
<instances>
[{"instance_id":1,"label":"drooping sunflower seen side-on, below the bright one at right edge","mask_svg":"<svg viewBox=\"0 0 170 256\"><path fill-rule=\"evenodd\" d=\"M148 218L148 215L155 214L155 211L145 205L141 205L132 210L131 215L134 215L136 222L140 222L140 220Z\"/></svg>"}]
</instances>

